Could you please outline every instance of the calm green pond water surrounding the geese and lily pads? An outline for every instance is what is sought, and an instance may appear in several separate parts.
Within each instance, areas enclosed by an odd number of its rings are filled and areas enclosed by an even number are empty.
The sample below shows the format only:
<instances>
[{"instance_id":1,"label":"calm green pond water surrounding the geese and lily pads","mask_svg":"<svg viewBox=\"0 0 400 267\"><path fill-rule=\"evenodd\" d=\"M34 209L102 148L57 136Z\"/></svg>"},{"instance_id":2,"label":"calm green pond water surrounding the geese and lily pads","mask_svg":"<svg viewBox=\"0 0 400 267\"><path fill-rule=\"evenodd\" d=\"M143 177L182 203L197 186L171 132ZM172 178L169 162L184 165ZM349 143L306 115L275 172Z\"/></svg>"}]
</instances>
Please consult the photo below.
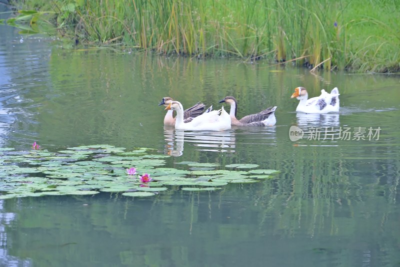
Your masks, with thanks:
<instances>
[{"instance_id":1,"label":"calm green pond water surrounding the geese and lily pads","mask_svg":"<svg viewBox=\"0 0 400 267\"><path fill-rule=\"evenodd\" d=\"M254 163L281 171L214 192L174 186L147 198L0 200L1 266L400 265L398 76L64 49L7 26L0 33L1 147L149 147L171 155L167 167ZM310 96L338 87L340 113L296 114L297 86ZM276 126L164 129L162 97L219 109L227 95L237 98L238 117L278 106ZM291 126L302 139L290 140ZM354 139L358 127L365 140ZM345 129L350 140L339 137Z\"/></svg>"}]
</instances>

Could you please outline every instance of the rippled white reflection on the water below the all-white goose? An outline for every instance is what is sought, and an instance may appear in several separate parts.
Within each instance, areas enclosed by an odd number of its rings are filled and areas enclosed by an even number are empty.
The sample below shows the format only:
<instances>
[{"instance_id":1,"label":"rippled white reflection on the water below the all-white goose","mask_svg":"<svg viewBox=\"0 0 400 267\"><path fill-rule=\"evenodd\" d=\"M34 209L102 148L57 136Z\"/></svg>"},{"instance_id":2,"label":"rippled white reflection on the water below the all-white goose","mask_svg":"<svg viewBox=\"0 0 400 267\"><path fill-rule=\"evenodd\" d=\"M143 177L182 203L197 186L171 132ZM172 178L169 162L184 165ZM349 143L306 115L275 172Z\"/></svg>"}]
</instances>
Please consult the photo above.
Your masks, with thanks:
<instances>
[{"instance_id":1,"label":"rippled white reflection on the water below the all-white goose","mask_svg":"<svg viewBox=\"0 0 400 267\"><path fill-rule=\"evenodd\" d=\"M181 131L164 127L165 153L178 157L183 154L184 142L199 151L234 152L234 131Z\"/></svg>"}]
</instances>

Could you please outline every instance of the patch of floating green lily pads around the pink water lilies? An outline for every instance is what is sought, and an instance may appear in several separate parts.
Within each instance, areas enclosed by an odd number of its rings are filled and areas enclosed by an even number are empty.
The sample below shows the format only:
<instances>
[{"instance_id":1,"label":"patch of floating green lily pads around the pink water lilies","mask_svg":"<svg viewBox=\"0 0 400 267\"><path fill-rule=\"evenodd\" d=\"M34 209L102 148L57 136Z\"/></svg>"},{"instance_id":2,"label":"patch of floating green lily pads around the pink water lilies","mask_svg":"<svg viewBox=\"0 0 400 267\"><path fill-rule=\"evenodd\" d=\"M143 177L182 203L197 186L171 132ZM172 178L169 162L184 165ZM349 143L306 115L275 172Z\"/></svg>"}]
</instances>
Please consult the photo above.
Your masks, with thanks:
<instances>
[{"instance_id":1,"label":"patch of floating green lily pads around the pink water lilies","mask_svg":"<svg viewBox=\"0 0 400 267\"><path fill-rule=\"evenodd\" d=\"M179 162L191 170L160 167L167 155L148 154L140 148L108 145L71 147L59 152L47 150L0 150L0 199L42 195L93 195L124 192L131 196L150 196L165 191L165 186L184 187L191 191L220 189L227 183L253 183L270 178L276 170L225 170L218 163ZM29 166L29 167L27 167ZM226 167L254 168L255 164L230 164ZM149 173L153 180L141 183L137 175L127 175L135 167L138 174ZM37 174L35 174L37 173ZM249 175L250 174L250 175ZM34 177L38 176L38 177ZM141 186L141 187L140 187Z\"/></svg>"}]
</instances>

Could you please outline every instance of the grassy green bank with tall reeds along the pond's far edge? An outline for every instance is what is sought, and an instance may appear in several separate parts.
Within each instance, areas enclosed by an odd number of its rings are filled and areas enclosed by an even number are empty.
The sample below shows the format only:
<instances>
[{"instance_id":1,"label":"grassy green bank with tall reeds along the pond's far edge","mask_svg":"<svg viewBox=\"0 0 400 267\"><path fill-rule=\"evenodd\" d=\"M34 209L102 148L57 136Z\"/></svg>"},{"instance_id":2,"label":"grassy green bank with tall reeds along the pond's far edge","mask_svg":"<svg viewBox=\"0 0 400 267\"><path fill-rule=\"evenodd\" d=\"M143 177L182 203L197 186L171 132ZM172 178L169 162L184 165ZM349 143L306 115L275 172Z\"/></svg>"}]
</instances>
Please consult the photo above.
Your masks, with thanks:
<instances>
[{"instance_id":1,"label":"grassy green bank with tall reeds along the pond's far edge","mask_svg":"<svg viewBox=\"0 0 400 267\"><path fill-rule=\"evenodd\" d=\"M10 23L90 46L400 71L396 0L25 0ZM31 11L30 13L27 11ZM35 13L34 11L37 11ZM22 19L21 19L22 17ZM18 19L19 18L19 19Z\"/></svg>"}]
</instances>

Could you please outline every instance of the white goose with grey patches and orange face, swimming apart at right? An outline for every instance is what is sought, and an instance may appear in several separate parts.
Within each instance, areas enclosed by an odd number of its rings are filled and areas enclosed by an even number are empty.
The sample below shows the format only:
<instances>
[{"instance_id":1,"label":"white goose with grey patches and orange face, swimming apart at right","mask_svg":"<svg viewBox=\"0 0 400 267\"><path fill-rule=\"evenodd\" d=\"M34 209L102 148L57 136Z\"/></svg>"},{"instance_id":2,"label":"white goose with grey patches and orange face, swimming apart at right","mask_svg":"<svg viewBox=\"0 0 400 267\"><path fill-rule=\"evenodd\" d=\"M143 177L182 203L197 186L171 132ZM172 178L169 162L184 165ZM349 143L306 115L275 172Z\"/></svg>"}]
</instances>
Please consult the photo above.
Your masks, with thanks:
<instances>
[{"instance_id":1,"label":"white goose with grey patches and orange face, swimming apart at right","mask_svg":"<svg viewBox=\"0 0 400 267\"><path fill-rule=\"evenodd\" d=\"M303 113L328 113L339 111L339 90L337 87L330 91L321 90L321 95L308 99L307 91L304 87L296 87L290 98L300 100L296 108L297 112Z\"/></svg>"}]
</instances>

